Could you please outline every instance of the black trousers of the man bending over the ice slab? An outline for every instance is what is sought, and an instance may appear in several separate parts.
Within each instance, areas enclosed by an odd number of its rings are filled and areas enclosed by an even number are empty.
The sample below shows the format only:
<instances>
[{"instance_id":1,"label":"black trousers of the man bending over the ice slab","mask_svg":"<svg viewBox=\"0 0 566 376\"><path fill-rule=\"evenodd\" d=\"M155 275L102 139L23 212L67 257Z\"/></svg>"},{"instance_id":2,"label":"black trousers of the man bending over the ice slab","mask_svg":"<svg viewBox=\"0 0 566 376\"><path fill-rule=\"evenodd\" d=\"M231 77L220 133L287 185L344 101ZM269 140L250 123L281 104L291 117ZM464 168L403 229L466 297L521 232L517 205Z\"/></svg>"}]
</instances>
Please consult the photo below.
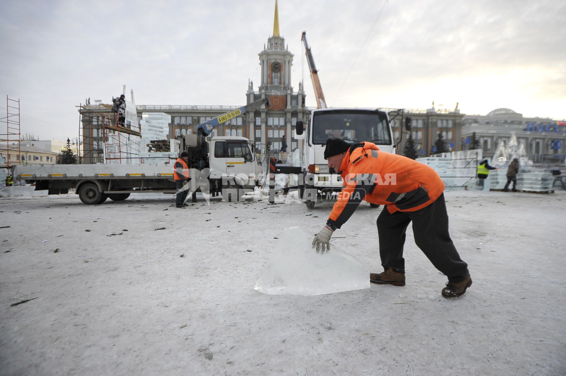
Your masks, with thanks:
<instances>
[{"instance_id":1,"label":"black trousers of the man bending over the ice slab","mask_svg":"<svg viewBox=\"0 0 566 376\"><path fill-rule=\"evenodd\" d=\"M436 201L417 211L396 211L387 208L378 217L379 255L381 265L405 273L403 246L407 226L413 221L413 235L417 247L436 269L448 276L451 282L461 282L468 276L468 264L462 261L450 234L444 193Z\"/></svg>"}]
</instances>

